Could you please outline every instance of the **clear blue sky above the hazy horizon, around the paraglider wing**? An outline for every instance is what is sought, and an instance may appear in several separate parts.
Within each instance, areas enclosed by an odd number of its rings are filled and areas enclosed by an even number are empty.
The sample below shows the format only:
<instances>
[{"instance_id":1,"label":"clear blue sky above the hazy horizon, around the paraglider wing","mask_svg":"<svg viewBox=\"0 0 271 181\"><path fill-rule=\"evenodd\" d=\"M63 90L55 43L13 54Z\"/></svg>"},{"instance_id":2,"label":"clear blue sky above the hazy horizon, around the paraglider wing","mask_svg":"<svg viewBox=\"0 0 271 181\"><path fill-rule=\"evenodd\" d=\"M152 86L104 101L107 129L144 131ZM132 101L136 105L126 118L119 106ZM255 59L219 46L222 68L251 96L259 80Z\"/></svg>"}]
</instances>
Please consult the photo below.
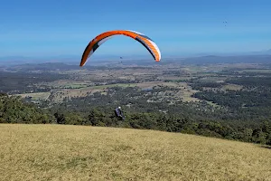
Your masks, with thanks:
<instances>
[{"instance_id":1,"label":"clear blue sky above the hazy horizon, around the paraglider wing","mask_svg":"<svg viewBox=\"0 0 271 181\"><path fill-rule=\"evenodd\" d=\"M145 33L162 56L271 48L270 0L23 0L0 7L0 56L81 55L98 33ZM227 21L225 27L223 22ZM146 55L119 36L94 56Z\"/></svg>"}]
</instances>

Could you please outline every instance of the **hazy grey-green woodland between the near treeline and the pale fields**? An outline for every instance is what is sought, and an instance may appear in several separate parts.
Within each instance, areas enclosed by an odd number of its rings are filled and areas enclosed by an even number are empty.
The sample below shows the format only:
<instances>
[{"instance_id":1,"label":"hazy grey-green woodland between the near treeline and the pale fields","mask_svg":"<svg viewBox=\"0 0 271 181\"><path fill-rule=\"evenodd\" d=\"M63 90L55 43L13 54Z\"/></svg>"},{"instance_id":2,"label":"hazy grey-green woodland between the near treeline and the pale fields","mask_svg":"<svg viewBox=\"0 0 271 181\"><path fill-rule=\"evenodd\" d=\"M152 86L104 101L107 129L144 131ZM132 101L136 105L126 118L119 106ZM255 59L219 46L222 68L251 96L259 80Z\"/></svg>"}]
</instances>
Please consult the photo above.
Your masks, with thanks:
<instances>
[{"instance_id":1,"label":"hazy grey-green woodland between the near treeline and the pale fields","mask_svg":"<svg viewBox=\"0 0 271 181\"><path fill-rule=\"evenodd\" d=\"M93 95L83 98L66 99L65 102L54 105L52 110L89 112L89 109L93 107L103 109L109 107L114 110L117 106L124 106L130 113L166 112L169 115L185 116L194 121L218 120L234 122L234 125L246 124L249 127L257 125L259 121L271 119L269 111L271 99L265 100L264 97L260 97L261 94L255 92L248 91L248 94L243 94L235 91L226 93L202 91L195 94L195 97L202 100L200 102L174 100L174 103L171 104L169 100L173 100L176 91L178 91L177 88L164 86L157 86L153 90L115 87L104 93L95 92ZM167 92L165 94L168 94L169 97L164 97L164 92ZM212 101L218 106L213 106L204 100ZM48 105L43 104L43 107L48 107Z\"/></svg>"}]
</instances>

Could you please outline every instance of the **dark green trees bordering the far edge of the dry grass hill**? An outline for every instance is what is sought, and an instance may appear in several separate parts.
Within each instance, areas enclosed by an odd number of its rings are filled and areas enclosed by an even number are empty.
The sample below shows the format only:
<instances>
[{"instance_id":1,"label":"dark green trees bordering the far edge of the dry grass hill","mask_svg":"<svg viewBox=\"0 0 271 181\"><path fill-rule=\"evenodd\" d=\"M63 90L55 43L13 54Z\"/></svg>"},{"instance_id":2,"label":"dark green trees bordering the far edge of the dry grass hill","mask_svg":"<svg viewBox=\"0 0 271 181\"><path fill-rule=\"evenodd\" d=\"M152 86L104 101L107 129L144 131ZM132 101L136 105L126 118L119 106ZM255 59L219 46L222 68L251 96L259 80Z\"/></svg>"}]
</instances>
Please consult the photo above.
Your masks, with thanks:
<instances>
[{"instance_id":1,"label":"dark green trees bordering the far edge of the dry grass hill","mask_svg":"<svg viewBox=\"0 0 271 181\"><path fill-rule=\"evenodd\" d=\"M116 88L119 89L119 88ZM114 91L114 90L111 90ZM139 98L142 92L135 91L134 97ZM89 96L91 99L98 98L99 94ZM132 96L132 97L133 97ZM82 107L75 109L67 103L53 107L51 110L42 110L35 105L23 102L18 97L8 97L6 94L0 95L0 122L1 123L57 123L71 125L89 125L102 127L118 127L132 129L155 129L169 132L181 132L189 134L197 134L208 137L228 138L234 140L255 142L260 144L271 145L271 123L268 121L258 123L256 127L231 126L227 121L216 121L211 119L200 119L202 110L197 106L182 105L182 110L175 107L174 110L154 111L145 110L145 107L128 109L125 107L126 119L123 121L115 115L114 105L102 105L102 103L89 105L84 104ZM119 98L121 99L121 98ZM139 100L142 101L143 100ZM117 104L115 104L117 106ZM143 104L138 105L139 107ZM149 104L147 106L151 106ZM155 109L163 109L164 106L157 104ZM87 107L87 108L86 108ZM132 106L133 107L133 106ZM206 107L207 108L207 107ZM199 111L195 116L190 110Z\"/></svg>"}]
</instances>

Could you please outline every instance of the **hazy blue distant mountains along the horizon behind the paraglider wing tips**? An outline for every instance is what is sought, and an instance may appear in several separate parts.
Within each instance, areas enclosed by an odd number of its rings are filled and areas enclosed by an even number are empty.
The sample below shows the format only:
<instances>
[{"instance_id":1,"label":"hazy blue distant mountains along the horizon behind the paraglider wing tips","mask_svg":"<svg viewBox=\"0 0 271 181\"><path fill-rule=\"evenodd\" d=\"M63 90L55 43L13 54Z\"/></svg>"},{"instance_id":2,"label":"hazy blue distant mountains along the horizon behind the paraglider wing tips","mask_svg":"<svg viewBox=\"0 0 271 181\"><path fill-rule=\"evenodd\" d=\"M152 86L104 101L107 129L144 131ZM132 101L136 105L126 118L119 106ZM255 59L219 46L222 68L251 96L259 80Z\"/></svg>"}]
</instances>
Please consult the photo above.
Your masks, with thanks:
<instances>
[{"instance_id":1,"label":"hazy blue distant mountains along the horizon behind the paraglider wing tips","mask_svg":"<svg viewBox=\"0 0 271 181\"><path fill-rule=\"evenodd\" d=\"M93 56L91 62L93 64L107 62L141 62L143 59L151 59L147 55L124 56L120 59L117 55L99 55ZM162 57L162 61L166 62L191 62L191 63L215 63L215 62L271 62L271 49L261 52L231 52L231 53L198 53L186 57L181 56L166 56ZM79 65L81 57L79 55L61 55L43 58L24 57L24 56L5 56L0 57L0 65L17 65L23 63L44 63L44 62L64 62L70 65ZM103 62L101 62L103 61ZM133 62L135 63L135 62Z\"/></svg>"}]
</instances>

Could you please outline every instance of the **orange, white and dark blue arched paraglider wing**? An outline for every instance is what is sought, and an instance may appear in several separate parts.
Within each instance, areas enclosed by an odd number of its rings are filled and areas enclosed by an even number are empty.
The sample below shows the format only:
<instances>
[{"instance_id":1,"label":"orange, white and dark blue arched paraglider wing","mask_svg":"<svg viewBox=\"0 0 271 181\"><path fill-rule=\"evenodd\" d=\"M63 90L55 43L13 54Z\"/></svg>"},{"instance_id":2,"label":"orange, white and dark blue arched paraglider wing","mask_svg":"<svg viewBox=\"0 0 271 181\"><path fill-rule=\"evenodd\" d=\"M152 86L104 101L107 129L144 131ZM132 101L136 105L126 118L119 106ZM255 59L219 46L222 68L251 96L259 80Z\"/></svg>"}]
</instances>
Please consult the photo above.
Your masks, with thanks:
<instances>
[{"instance_id":1,"label":"orange, white and dark blue arched paraglider wing","mask_svg":"<svg viewBox=\"0 0 271 181\"><path fill-rule=\"evenodd\" d=\"M137 42L145 46L145 48L152 54L156 62L159 62L161 60L161 52L158 46L154 43L152 39L145 36L145 34L131 30L114 30L98 34L98 36L96 36L88 44L88 46L86 47L85 51L82 54L80 66L84 66L86 62L88 62L91 54L93 54L93 52L95 52L102 43L107 42L108 39L113 38L114 36L117 35L126 35L128 37L135 39Z\"/></svg>"}]
</instances>

